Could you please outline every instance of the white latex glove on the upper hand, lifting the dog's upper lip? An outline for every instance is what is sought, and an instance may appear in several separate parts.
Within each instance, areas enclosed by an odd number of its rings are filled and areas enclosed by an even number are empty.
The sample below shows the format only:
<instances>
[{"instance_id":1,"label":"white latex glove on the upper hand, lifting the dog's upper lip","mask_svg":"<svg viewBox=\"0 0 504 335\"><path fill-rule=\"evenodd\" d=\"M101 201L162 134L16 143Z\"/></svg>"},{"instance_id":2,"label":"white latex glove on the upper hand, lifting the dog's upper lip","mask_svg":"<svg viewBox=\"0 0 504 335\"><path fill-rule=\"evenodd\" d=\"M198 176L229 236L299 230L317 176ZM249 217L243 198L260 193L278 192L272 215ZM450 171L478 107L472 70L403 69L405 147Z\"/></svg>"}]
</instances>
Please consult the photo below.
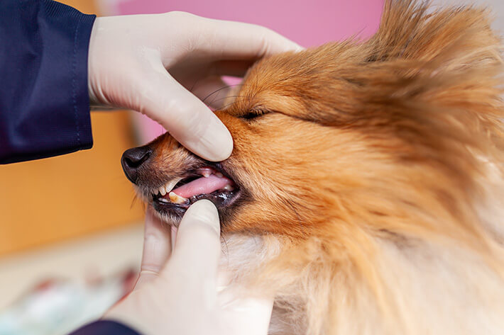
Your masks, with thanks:
<instances>
[{"instance_id":1,"label":"white latex glove on the upper hand, lifting the dog's upper lip","mask_svg":"<svg viewBox=\"0 0 504 335\"><path fill-rule=\"evenodd\" d=\"M138 110L195 154L221 161L231 154L231 135L199 98L224 88L222 75L243 76L260 57L299 49L258 25L183 12L97 18L89 98L92 106Z\"/></svg>"}]
</instances>

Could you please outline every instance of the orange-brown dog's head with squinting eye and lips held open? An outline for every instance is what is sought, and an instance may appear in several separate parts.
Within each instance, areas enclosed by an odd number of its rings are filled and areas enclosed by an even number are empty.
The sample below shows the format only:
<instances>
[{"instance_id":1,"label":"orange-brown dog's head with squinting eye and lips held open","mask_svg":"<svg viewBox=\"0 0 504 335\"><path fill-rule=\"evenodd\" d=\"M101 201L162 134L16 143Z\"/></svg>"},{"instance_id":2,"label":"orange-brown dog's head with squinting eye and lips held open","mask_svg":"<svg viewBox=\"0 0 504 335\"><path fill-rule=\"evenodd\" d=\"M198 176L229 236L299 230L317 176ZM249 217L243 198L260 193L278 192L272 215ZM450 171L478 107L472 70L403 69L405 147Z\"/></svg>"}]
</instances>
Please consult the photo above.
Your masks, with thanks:
<instances>
[{"instance_id":1,"label":"orange-brown dog's head with squinting eye and lips held open","mask_svg":"<svg viewBox=\"0 0 504 335\"><path fill-rule=\"evenodd\" d=\"M215 112L234 138L229 159L204 161L168 133L128 150L141 198L172 225L204 198L223 232L290 237L334 221L346 235L470 217L475 157L491 155L502 115L498 39L483 11L429 16L414 3L388 1L366 42L258 62Z\"/></svg>"}]
</instances>

